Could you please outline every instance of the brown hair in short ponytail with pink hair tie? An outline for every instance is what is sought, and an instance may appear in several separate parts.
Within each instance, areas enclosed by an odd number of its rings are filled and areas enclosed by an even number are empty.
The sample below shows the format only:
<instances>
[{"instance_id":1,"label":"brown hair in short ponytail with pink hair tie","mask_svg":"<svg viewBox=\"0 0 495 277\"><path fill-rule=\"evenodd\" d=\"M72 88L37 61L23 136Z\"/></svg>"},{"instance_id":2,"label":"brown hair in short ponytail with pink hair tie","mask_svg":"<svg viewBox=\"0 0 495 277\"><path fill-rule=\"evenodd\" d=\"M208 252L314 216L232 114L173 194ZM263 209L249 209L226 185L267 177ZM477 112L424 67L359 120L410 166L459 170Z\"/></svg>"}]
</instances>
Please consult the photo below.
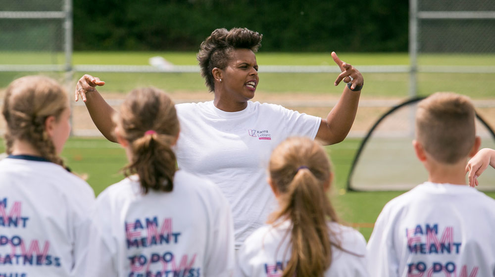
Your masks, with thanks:
<instances>
[{"instance_id":1,"label":"brown hair in short ponytail with pink hair tie","mask_svg":"<svg viewBox=\"0 0 495 277\"><path fill-rule=\"evenodd\" d=\"M172 191L177 168L171 146L179 134L179 120L170 97L154 88L134 90L122 104L116 124L132 151L124 175L137 174L145 193Z\"/></svg>"}]
</instances>

